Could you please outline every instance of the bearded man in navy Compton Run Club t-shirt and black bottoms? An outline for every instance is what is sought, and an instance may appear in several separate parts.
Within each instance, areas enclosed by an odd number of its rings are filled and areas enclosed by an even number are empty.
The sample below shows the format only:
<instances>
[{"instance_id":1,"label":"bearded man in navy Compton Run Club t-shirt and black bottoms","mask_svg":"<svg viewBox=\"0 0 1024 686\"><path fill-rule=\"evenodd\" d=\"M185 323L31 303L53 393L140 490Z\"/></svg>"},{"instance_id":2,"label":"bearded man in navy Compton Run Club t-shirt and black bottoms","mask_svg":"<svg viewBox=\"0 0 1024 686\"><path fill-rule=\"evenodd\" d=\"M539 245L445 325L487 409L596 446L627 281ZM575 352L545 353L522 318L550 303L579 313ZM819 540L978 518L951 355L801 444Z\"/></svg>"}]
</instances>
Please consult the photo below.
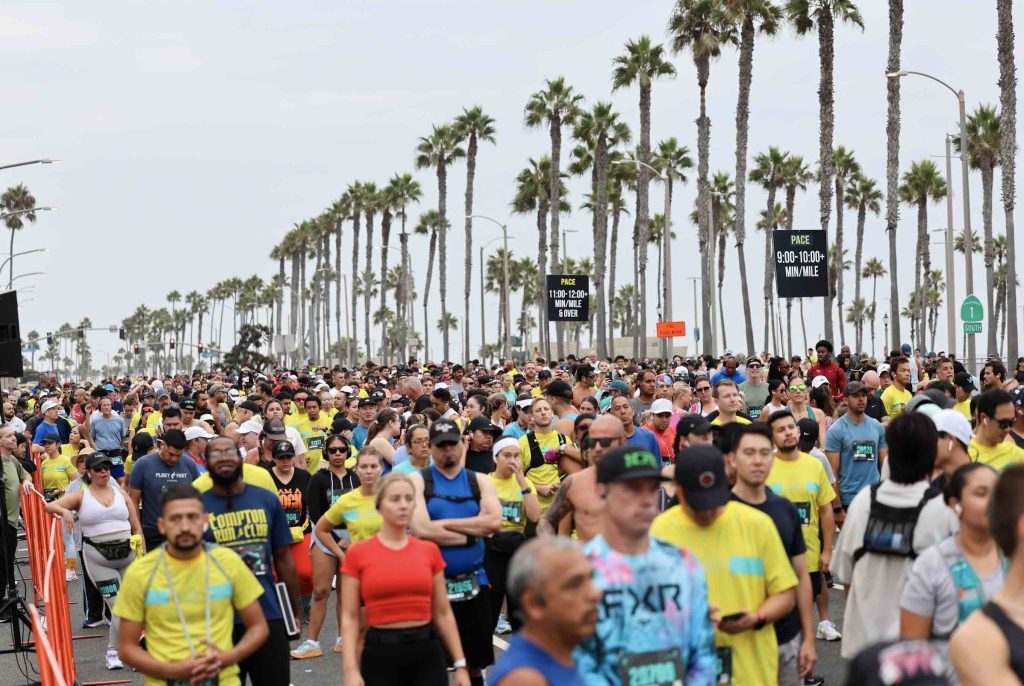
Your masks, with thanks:
<instances>
[{"instance_id":1,"label":"bearded man in navy Compton Run Club t-shirt and black bottoms","mask_svg":"<svg viewBox=\"0 0 1024 686\"><path fill-rule=\"evenodd\" d=\"M269 635L259 652L242 660L241 678L245 681L248 676L253 686L290 683L288 632L274 589L274 572L288 589L299 626L302 603L295 559L289 550L292 534L285 508L276 492L251 486L242 479L242 456L230 438L218 436L210 440L206 465L213 480L213 487L203 494L210 521L206 540L237 552L263 587L260 606ZM234 625L236 640L245 632L245 626Z\"/></svg>"}]
</instances>

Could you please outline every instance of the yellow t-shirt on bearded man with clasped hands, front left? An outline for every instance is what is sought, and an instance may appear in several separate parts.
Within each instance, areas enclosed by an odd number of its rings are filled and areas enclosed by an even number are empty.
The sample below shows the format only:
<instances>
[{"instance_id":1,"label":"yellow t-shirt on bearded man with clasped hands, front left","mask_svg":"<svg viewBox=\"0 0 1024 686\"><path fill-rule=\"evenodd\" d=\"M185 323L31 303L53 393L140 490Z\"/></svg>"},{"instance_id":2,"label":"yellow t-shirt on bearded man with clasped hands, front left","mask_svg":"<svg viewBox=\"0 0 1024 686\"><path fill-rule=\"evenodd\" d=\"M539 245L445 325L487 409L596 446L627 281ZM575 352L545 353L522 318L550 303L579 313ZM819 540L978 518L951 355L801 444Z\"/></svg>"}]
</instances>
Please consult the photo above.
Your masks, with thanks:
<instances>
[{"instance_id":1,"label":"yellow t-shirt on bearded man with clasped hands, front left","mask_svg":"<svg viewBox=\"0 0 1024 686\"><path fill-rule=\"evenodd\" d=\"M207 555L213 558L209 562ZM233 645L231 632L234 629L234 610L245 609L257 602L263 595L263 588L242 558L227 548L213 547L191 560L179 560L158 549L136 560L125 572L114 603L114 613L123 619L142 624L145 629L146 650L154 658L162 662L174 662L188 657L188 643L161 558L167 561L171 587L178 596L185 626L197 650L206 652L204 615L208 601L210 642L221 650L229 650ZM208 565L209 587L206 584ZM146 677L145 683L146 686L167 686L167 681L151 677ZM238 664L220 671L219 686L237 686L239 683Z\"/></svg>"}]
</instances>

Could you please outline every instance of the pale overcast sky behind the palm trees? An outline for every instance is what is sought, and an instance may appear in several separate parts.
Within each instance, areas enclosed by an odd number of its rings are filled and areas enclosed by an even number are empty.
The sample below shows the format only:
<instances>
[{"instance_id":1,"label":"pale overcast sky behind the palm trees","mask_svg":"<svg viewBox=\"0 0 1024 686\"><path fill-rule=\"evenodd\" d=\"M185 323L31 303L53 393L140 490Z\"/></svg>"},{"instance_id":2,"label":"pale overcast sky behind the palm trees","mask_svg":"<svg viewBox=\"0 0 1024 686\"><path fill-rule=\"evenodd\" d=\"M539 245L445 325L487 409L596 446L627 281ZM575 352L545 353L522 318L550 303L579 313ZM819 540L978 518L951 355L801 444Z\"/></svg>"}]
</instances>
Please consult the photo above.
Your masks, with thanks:
<instances>
[{"instance_id":1,"label":"pale overcast sky behind the palm trees","mask_svg":"<svg viewBox=\"0 0 1024 686\"><path fill-rule=\"evenodd\" d=\"M835 144L852 148L864 172L884 189L887 3L862 0L859 5L864 31L841 27L836 32ZM60 160L55 166L0 171L3 187L26 183L39 205L58 208L40 213L34 225L15 237L15 253L49 248L14 260L15 276L45 272L15 282L22 289L23 333L44 334L86 315L97 327L117 325L139 304L167 306L166 294L175 289L204 291L224 278L252 273L268 280L276 270L268 254L281 237L330 206L355 180L383 185L395 173L415 173L424 191L422 203L410 211L415 221L437 203L433 173L414 168L418 138L474 104L494 117L497 126L497 144L482 145L479 153L474 211L508 222L515 257L536 257L535 218L513 215L509 207L515 175L528 158L550 151L546 131L523 125L527 98L545 79L564 76L588 106L597 100L612 102L637 136L639 91L611 92L611 60L629 39L647 34L667 42L672 6L666 0L7 3L0 9L0 55L6 65L0 164ZM1019 19L1020 3L1015 9ZM903 67L965 88L969 113L979 103L997 104L995 29L991 1L908 2ZM1020 43L1018 37L1018 61L1024 63ZM726 50L713 63L708 88L711 169L730 175L735 166L736 56ZM776 145L814 164L816 39L783 29L758 41L754 59L751 157ZM695 71L688 53L673 60L677 77L653 86L651 139L656 143L676 136L695 161ZM943 136L955 123L956 102L948 91L926 79L904 79L901 173L910 162L928 158L944 169L937 156L944 155ZM569 132L563 137L567 148ZM959 231L955 164L953 174L954 228ZM996 172L996 233L1004 225L998 183ZM446 271L449 309L456 313L462 311L464 188L465 165L459 163L449 174L453 230ZM584 179L569 182L573 208L587 190ZM689 183L677 185L673 204L674 318L685 319L690 331L692 286L687 277L699 274L699 264L696 228L687 217L695 194L691 176ZM662 197L660 187L652 185L652 212L662 211ZM762 189L748 186L748 271L759 346L765 244L753 225L765 199ZM977 174L972 174L971 206L973 227L980 234ZM852 259L851 215L847 213L846 226ZM796 228L818 228L816 187L798 196L795 217ZM944 203L931 206L930 228L944 228L945 217ZM901 209L901 255L914 255L915 221L912 208ZM592 256L590 215L574 209L561 223L579 231L569 234L570 256ZM624 228L620 283L632 273L631 218L624 218ZM865 233L865 261L879 257L888 264L884 216L869 217ZM474 235L470 345L475 355L480 342L477 247L500 231L476 222ZM9 233L2 238L0 252L7 253ZM348 263L350 223L343 241L343 263ZM426 241L413 239L411 247L422 294ZM936 267L944 264L943 250L932 246ZM648 324L653 330L656 253L650 258ZM1018 271L1021 263L1019 257ZM743 329L731 246L726 264L726 342L738 350L744 347ZM912 288L912 259L900 261L903 294ZM957 302L966 294L963 269L957 256ZM983 273L979 256L976 284L983 283ZM436 284L435 276L431 321L439 316ZM846 284L849 301L853 274L847 274ZM880 284L879 291L879 308L888 310L888 288ZM517 311L517 297L512 304ZM497 306L497 294L487 294L492 320ZM821 301L807 302L805 312L808 337L814 340L822 331ZM421 319L418 309L418 324ZM496 330L494 324L487 328ZM852 337L849 331L847 335ZM432 331L430 338L431 354L439 356L439 335ZM941 327L939 340L944 341ZM97 365L120 345L117 335L106 332L90 334L89 342ZM692 338L680 343L692 344ZM460 336L453 336L452 354L462 358Z\"/></svg>"}]
</instances>

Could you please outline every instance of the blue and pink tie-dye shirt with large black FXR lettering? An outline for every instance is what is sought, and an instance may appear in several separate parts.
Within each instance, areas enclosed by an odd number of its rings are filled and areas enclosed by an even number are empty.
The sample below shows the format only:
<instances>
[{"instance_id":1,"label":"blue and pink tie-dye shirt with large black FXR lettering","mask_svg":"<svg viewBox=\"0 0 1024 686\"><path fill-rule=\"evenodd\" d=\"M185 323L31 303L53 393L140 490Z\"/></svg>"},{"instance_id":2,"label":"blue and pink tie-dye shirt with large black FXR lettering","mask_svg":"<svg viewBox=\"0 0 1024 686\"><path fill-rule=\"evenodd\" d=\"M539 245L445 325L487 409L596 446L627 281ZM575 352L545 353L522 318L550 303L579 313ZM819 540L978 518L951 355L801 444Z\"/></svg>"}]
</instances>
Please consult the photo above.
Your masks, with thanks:
<instances>
[{"instance_id":1,"label":"blue and pink tie-dye shirt with large black FXR lettering","mask_svg":"<svg viewBox=\"0 0 1024 686\"><path fill-rule=\"evenodd\" d=\"M672 683L714 684L718 678L715 629L708 615L708 582L696 557L650 538L643 555L616 552L598 534L584 546L594 584L604 592L594 636L573 655L590 686L620 679L624 655L679 649Z\"/></svg>"}]
</instances>

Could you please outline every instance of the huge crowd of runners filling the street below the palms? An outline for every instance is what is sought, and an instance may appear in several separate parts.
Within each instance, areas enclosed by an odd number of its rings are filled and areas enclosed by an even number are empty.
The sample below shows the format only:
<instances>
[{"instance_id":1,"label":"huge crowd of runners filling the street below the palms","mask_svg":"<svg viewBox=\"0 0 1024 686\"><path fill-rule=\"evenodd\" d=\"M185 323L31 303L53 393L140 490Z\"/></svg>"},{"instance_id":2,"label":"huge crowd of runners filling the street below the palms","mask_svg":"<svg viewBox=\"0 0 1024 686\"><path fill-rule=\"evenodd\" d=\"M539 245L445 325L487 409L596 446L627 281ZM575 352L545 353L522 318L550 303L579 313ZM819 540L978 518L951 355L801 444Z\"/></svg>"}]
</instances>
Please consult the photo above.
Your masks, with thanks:
<instances>
[{"instance_id":1,"label":"huge crowd of runners filling the street below the palms","mask_svg":"<svg viewBox=\"0 0 1024 686\"><path fill-rule=\"evenodd\" d=\"M50 378L4 390L0 463L5 540L38 470L154 686L821 684L818 641L850 684L1024 683L1024 358Z\"/></svg>"}]
</instances>

